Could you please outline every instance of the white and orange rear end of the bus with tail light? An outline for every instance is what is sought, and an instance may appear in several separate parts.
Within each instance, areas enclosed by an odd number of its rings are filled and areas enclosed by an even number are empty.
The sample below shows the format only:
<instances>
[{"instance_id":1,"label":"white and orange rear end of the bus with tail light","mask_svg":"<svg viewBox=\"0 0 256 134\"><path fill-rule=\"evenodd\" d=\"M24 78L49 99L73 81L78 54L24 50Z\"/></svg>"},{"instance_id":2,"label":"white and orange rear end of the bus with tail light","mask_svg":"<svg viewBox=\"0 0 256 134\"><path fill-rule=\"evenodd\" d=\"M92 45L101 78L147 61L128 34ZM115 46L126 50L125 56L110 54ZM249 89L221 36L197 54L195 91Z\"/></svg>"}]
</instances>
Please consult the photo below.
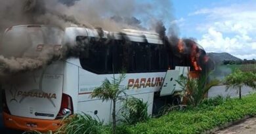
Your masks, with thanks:
<instances>
[{"instance_id":1,"label":"white and orange rear end of the bus with tail light","mask_svg":"<svg viewBox=\"0 0 256 134\"><path fill-rule=\"evenodd\" d=\"M3 36L0 54L7 58L34 58L44 48L60 47L63 37L64 31L57 27L10 27ZM63 61L11 76L1 87L5 127L42 132L58 129L61 118L74 112L72 98L63 93L63 81Z\"/></svg>"}]
</instances>

